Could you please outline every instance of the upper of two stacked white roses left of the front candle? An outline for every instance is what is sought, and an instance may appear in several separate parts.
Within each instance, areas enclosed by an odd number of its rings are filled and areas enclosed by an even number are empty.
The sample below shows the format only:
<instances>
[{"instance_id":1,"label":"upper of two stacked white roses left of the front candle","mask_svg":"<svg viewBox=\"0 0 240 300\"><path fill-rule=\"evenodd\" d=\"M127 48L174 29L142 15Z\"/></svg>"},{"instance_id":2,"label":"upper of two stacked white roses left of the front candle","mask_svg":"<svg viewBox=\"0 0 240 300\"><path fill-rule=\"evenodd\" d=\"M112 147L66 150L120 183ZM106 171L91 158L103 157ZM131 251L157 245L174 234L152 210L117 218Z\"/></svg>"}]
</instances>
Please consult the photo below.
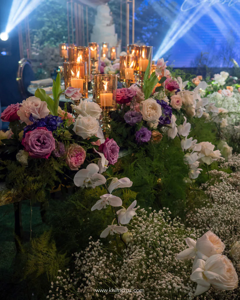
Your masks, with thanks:
<instances>
[{"instance_id":1,"label":"upper of two stacked white roses left of the front candle","mask_svg":"<svg viewBox=\"0 0 240 300\"><path fill-rule=\"evenodd\" d=\"M97 103L87 101L86 99L84 101L80 99L79 105L71 104L71 107L82 117L90 115L93 118L99 119L102 112L101 107Z\"/></svg>"}]
</instances>

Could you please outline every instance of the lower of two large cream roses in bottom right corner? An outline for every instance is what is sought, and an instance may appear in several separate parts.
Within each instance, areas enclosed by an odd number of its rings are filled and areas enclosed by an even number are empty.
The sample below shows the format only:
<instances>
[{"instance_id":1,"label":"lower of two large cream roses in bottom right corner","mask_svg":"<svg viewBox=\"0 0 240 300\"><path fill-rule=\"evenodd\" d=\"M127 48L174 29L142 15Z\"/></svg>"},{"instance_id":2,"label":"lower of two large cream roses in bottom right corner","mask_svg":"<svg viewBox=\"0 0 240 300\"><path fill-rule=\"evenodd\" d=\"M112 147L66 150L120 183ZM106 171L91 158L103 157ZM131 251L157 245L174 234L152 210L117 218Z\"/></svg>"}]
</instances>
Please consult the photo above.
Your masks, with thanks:
<instances>
[{"instance_id":1,"label":"lower of two large cream roses in bottom right corner","mask_svg":"<svg viewBox=\"0 0 240 300\"><path fill-rule=\"evenodd\" d=\"M197 283L195 295L206 292L210 286L217 290L233 290L238 286L238 275L232 262L222 254L210 256L206 261L198 259L190 276Z\"/></svg>"}]
</instances>

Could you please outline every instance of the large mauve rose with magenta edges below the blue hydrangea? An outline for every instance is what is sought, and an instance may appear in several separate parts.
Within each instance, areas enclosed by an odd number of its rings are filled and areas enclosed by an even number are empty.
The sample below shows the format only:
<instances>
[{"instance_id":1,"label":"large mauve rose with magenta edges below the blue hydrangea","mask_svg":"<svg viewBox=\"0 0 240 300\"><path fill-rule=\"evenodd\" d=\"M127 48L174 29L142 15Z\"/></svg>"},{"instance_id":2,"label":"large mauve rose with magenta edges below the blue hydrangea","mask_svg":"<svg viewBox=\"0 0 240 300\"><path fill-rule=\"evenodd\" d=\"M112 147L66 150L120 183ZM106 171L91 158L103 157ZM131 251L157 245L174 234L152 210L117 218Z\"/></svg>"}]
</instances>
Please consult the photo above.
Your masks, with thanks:
<instances>
[{"instance_id":1,"label":"large mauve rose with magenta edges below the blue hydrangea","mask_svg":"<svg viewBox=\"0 0 240 300\"><path fill-rule=\"evenodd\" d=\"M32 158L49 158L55 149L55 139L52 131L48 131L46 127L38 127L26 132L22 145Z\"/></svg>"}]
</instances>

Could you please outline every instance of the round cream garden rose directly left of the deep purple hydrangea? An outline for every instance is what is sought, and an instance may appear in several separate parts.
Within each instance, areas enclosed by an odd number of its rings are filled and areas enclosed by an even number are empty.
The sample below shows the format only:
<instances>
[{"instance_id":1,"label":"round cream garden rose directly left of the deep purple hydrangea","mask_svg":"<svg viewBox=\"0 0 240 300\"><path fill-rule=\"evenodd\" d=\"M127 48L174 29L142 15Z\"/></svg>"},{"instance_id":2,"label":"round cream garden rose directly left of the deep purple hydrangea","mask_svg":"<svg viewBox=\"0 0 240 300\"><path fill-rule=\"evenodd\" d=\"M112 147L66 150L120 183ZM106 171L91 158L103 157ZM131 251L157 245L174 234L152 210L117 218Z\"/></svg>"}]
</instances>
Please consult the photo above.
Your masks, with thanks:
<instances>
[{"instance_id":1,"label":"round cream garden rose directly left of the deep purple hydrangea","mask_svg":"<svg viewBox=\"0 0 240 300\"><path fill-rule=\"evenodd\" d=\"M141 114L143 120L151 123L156 123L162 115L161 105L153 98L149 98L141 102Z\"/></svg>"}]
</instances>

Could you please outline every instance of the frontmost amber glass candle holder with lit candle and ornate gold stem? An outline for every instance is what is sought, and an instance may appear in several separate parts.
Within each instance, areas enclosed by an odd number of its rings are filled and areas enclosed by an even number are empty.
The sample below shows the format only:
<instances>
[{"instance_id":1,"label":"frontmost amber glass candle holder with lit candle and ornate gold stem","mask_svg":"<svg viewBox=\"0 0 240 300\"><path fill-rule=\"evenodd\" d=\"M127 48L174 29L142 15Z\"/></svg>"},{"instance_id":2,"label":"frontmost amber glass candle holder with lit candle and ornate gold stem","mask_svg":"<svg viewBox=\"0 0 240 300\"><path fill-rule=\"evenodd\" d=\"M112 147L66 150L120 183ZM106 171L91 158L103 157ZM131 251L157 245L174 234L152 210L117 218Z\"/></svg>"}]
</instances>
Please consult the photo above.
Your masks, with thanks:
<instances>
[{"instance_id":1,"label":"frontmost amber glass candle holder with lit candle and ornate gold stem","mask_svg":"<svg viewBox=\"0 0 240 300\"><path fill-rule=\"evenodd\" d=\"M117 75L97 74L95 75L95 102L103 110L101 126L106 137L111 132L109 112L117 110Z\"/></svg>"}]
</instances>

